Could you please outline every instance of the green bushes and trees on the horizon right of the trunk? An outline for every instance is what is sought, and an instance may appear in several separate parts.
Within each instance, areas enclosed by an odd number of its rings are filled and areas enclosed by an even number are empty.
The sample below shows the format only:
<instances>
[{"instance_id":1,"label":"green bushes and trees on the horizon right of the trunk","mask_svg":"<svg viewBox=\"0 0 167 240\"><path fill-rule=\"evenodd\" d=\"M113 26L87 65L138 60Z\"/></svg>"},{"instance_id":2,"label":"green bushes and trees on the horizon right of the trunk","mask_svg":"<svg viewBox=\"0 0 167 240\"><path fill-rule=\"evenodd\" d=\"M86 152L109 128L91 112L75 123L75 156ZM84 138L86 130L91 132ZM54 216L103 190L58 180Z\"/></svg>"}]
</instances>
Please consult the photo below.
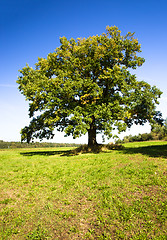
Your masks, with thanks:
<instances>
[{"instance_id":1,"label":"green bushes and trees on the horizon right of the trunk","mask_svg":"<svg viewBox=\"0 0 167 240\"><path fill-rule=\"evenodd\" d=\"M150 133L138 134L135 136L125 136L122 140L117 140L117 143L127 142L140 142L140 141L151 141L151 140L164 140L167 141L167 119L163 124L154 124L151 128Z\"/></svg>"}]
</instances>

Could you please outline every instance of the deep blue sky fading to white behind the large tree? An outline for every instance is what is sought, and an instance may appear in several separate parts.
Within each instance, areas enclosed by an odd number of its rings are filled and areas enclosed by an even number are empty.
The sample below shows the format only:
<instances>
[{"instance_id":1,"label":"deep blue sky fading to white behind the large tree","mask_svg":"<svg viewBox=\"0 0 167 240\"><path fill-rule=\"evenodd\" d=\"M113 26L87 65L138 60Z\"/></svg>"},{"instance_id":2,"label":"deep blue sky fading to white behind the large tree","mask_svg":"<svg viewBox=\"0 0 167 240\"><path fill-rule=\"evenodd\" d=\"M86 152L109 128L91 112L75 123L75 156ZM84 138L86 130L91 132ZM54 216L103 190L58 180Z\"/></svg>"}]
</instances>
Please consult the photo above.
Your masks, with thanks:
<instances>
[{"instance_id":1,"label":"deep blue sky fading to white behind the large tree","mask_svg":"<svg viewBox=\"0 0 167 240\"><path fill-rule=\"evenodd\" d=\"M29 123L28 102L17 89L18 70L53 52L59 37L100 35L107 25L122 34L135 32L146 60L136 76L163 91L158 110L166 118L166 12L166 0L0 0L0 140L20 141L20 129ZM148 131L148 125L136 126L127 134ZM54 141L73 139L56 133ZM87 136L74 142L85 143Z\"/></svg>"}]
</instances>

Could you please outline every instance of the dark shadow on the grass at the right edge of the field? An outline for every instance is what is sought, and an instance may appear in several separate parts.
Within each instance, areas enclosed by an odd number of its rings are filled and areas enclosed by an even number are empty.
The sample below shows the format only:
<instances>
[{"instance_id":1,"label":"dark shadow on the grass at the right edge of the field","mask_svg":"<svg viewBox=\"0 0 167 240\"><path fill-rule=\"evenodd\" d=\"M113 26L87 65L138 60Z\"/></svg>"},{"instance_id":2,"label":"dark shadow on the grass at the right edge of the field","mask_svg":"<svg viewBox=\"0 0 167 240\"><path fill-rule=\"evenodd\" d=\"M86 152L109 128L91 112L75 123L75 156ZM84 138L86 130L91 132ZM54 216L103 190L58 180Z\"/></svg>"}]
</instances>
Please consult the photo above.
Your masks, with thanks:
<instances>
[{"instance_id":1,"label":"dark shadow on the grass at the right edge of the field","mask_svg":"<svg viewBox=\"0 0 167 240\"><path fill-rule=\"evenodd\" d=\"M142 147L126 147L122 150L125 154L137 154L141 153L149 157L163 157L167 158L167 144L166 145L152 145L152 146L142 146Z\"/></svg>"}]
</instances>

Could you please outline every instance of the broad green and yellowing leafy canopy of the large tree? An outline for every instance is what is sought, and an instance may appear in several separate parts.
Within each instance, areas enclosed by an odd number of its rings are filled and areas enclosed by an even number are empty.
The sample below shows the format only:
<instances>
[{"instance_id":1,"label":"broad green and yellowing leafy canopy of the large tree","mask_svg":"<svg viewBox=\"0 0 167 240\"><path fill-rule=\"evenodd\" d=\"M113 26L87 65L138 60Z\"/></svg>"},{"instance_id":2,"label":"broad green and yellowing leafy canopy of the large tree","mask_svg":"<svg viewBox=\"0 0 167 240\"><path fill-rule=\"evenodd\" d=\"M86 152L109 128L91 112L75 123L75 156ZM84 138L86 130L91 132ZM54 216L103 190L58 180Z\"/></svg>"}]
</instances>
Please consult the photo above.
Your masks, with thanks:
<instances>
[{"instance_id":1,"label":"broad green and yellowing leafy canopy of the large tree","mask_svg":"<svg viewBox=\"0 0 167 240\"><path fill-rule=\"evenodd\" d=\"M129 71L144 63L134 33L122 36L116 26L107 27L100 36L62 37L60 44L46 59L38 58L35 69L20 70L17 83L32 118L22 140L52 138L55 128L74 138L87 132L110 138L114 129L152 121L162 92Z\"/></svg>"}]
</instances>

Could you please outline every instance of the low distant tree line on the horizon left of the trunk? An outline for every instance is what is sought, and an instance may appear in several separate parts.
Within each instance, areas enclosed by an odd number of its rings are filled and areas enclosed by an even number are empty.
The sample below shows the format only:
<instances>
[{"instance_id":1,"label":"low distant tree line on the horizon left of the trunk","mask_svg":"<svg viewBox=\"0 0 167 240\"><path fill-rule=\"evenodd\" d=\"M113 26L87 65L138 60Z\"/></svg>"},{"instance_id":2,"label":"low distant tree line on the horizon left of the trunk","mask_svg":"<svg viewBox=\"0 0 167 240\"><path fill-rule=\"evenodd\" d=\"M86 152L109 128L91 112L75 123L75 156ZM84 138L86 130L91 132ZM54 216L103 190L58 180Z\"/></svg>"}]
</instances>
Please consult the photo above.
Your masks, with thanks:
<instances>
[{"instance_id":1,"label":"low distant tree line on the horizon left of the trunk","mask_svg":"<svg viewBox=\"0 0 167 240\"><path fill-rule=\"evenodd\" d=\"M0 149L5 148L43 148L43 147L79 147L81 144L75 143L47 143L47 142L34 142L34 143L22 143L22 142L5 142L0 140Z\"/></svg>"}]
</instances>

